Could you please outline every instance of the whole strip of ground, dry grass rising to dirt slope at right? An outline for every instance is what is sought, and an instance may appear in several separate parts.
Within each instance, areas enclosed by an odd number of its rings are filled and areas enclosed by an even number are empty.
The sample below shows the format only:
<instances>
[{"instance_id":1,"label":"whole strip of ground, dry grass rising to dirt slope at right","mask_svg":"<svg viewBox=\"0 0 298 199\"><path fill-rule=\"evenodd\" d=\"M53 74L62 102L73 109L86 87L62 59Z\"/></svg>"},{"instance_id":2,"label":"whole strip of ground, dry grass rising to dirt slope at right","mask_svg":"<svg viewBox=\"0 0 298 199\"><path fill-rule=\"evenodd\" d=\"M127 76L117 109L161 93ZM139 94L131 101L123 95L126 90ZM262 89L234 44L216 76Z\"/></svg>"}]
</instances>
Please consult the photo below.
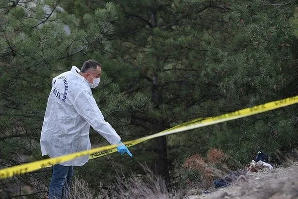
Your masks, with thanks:
<instances>
[{"instance_id":1,"label":"whole strip of ground, dry grass rising to dirt slope at right","mask_svg":"<svg viewBox=\"0 0 298 199\"><path fill-rule=\"evenodd\" d=\"M208 193L199 187L169 193L161 178L148 174L145 181L128 179L112 188L112 197L105 193L93 196L87 185L78 180L72 199L298 199L298 163L240 176L225 188L211 188Z\"/></svg>"}]
</instances>

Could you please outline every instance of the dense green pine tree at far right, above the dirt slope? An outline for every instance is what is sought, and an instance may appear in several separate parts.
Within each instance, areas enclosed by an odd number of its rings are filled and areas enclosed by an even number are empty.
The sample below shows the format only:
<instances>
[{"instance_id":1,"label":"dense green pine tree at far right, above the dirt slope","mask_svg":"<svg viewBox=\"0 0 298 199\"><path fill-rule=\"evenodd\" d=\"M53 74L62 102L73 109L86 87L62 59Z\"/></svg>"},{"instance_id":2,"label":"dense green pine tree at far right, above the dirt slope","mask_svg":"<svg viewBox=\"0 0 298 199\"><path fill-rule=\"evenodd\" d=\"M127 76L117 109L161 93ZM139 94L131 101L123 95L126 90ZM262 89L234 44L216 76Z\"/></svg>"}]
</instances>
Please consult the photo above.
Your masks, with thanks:
<instances>
[{"instance_id":1,"label":"dense green pine tree at far right, above the dirt slope","mask_svg":"<svg viewBox=\"0 0 298 199\"><path fill-rule=\"evenodd\" d=\"M297 95L297 39L289 21L295 5L258 0L231 4L225 32L216 35L202 73L219 96L213 114ZM258 150L273 158L277 150L294 151L296 107L222 124L210 145L228 151L242 165Z\"/></svg>"}]
</instances>

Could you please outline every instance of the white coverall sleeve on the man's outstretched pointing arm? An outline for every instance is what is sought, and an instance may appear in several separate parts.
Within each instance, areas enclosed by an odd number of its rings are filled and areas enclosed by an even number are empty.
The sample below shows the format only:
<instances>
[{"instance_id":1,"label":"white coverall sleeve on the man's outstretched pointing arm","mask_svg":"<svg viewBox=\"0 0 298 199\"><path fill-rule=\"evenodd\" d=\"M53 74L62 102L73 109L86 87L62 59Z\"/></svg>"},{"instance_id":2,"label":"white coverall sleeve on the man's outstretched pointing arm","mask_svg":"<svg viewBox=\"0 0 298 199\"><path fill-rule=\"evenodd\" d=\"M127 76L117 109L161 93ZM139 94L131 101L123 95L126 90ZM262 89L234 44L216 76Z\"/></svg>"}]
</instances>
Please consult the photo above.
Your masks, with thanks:
<instances>
[{"instance_id":1,"label":"white coverall sleeve on the man's outstretched pointing arm","mask_svg":"<svg viewBox=\"0 0 298 199\"><path fill-rule=\"evenodd\" d=\"M74 109L85 121L111 144L118 144L120 136L112 126L104 120L95 99L87 91L81 91L74 100Z\"/></svg>"}]
</instances>

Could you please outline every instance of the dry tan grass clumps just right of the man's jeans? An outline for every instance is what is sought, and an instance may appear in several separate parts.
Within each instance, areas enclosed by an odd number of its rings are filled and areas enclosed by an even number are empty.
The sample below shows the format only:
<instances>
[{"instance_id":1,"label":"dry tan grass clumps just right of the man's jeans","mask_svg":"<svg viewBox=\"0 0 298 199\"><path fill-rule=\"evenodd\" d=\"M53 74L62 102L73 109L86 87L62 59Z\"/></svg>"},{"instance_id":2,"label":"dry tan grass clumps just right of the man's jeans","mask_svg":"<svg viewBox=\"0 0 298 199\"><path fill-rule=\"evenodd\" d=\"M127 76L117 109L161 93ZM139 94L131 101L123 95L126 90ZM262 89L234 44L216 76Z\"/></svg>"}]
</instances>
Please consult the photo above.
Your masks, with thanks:
<instances>
[{"instance_id":1,"label":"dry tan grass clumps just right of the man's jeans","mask_svg":"<svg viewBox=\"0 0 298 199\"><path fill-rule=\"evenodd\" d=\"M117 183L109 190L94 197L94 192L82 178L75 178L72 182L68 199L172 199L165 181L155 175L148 167L144 167L146 175L132 175L129 178L118 175Z\"/></svg>"}]
</instances>

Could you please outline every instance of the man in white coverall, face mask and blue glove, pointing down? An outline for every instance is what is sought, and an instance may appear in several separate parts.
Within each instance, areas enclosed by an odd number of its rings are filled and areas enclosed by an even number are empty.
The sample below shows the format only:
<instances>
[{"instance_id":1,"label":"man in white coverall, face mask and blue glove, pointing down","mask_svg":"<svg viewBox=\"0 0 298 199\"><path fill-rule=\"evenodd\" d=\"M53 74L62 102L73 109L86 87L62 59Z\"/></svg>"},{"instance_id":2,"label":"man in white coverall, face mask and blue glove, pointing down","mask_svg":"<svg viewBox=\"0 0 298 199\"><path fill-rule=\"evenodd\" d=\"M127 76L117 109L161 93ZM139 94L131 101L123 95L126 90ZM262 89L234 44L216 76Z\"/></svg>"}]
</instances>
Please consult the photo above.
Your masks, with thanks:
<instances>
[{"instance_id":1,"label":"man in white coverall, face mask and blue glove, pointing down","mask_svg":"<svg viewBox=\"0 0 298 199\"><path fill-rule=\"evenodd\" d=\"M91 126L111 144L120 144L119 153L132 156L120 136L105 122L92 96L91 88L99 84L100 74L101 65L88 60L81 70L73 66L70 71L54 77L41 131L42 155L53 158L90 149ZM53 166L49 199L67 196L73 166L84 165L88 158L86 155Z\"/></svg>"}]
</instances>

